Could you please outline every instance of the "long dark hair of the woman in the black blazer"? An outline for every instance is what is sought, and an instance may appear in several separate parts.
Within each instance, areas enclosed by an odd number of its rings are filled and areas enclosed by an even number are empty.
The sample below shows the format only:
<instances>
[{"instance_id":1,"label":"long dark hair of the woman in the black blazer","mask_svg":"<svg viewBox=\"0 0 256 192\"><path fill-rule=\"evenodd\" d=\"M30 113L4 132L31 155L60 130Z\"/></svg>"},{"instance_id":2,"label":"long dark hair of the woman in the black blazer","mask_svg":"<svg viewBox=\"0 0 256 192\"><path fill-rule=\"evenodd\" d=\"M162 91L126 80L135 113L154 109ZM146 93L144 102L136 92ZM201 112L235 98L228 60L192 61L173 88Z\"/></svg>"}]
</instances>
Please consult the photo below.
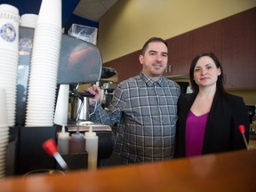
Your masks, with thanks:
<instances>
[{"instance_id":1,"label":"long dark hair of the woman in the black blazer","mask_svg":"<svg viewBox=\"0 0 256 192\"><path fill-rule=\"evenodd\" d=\"M220 60L216 57L215 54L213 54L212 52L201 52L200 54L198 54L194 60L192 60L191 65L190 65L190 69L189 69L189 80L190 80L190 84L191 84L191 88L193 90L194 93L198 93L199 92L199 86L196 84L195 80L194 80L194 70L196 67L196 62L204 56L208 56L211 57L212 60L214 61L215 65L217 68L220 68L220 76L218 76L217 79L217 92L220 92L223 96L226 96L228 93L225 91L223 82L224 82L224 72L223 72L223 68L221 67L220 64Z\"/></svg>"}]
</instances>

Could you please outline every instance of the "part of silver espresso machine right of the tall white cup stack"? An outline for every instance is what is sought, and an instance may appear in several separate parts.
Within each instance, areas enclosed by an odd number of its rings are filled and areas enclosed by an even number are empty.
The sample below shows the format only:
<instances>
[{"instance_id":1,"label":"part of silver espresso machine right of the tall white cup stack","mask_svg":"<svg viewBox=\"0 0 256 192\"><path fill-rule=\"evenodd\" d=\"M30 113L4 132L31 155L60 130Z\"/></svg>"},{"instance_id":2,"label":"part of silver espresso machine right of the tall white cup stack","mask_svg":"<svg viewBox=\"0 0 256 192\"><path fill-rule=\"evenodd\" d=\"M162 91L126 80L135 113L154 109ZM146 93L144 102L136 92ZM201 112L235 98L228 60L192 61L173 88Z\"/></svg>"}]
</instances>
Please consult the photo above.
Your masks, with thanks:
<instances>
[{"instance_id":1,"label":"part of silver espresso machine right of the tall white cup stack","mask_svg":"<svg viewBox=\"0 0 256 192\"><path fill-rule=\"evenodd\" d=\"M64 105L70 115L65 114L64 119L68 119L67 132L70 135L77 130L84 133L92 127L93 132L96 132L99 137L98 162L100 162L100 159L107 158L112 154L114 147L112 128L106 124L90 121L88 100L93 95L89 92L79 92L78 88L84 84L96 84L102 76L106 75L106 68L102 67L100 51L94 44L84 42L73 36L63 35L63 37L65 37L66 41L64 42L68 48L63 48L63 51L60 52L61 55L65 56L62 58L60 56L58 84L60 87L63 85L69 87L65 92L66 102ZM58 104L58 98L56 102ZM55 109L55 115L57 109ZM61 124L57 125L60 126Z\"/></svg>"}]
</instances>

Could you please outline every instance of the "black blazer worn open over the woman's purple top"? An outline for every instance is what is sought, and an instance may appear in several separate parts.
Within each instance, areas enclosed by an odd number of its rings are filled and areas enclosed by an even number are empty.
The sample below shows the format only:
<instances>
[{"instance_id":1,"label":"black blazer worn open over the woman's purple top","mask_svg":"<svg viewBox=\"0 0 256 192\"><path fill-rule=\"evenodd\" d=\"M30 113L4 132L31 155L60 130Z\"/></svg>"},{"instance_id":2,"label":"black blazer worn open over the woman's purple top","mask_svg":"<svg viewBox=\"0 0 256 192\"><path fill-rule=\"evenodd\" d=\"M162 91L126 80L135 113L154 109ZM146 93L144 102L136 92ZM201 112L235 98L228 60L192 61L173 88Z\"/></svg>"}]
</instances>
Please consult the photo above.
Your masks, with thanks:
<instances>
[{"instance_id":1,"label":"black blazer worn open over the woman's purple top","mask_svg":"<svg viewBox=\"0 0 256 192\"><path fill-rule=\"evenodd\" d=\"M178 100L178 121L176 127L176 157L185 156L185 124L188 111L196 95L194 93L180 95ZM238 125L244 124L245 137L249 140L249 116L243 98L228 94L223 97L215 93L212 101L202 154L219 153L246 148Z\"/></svg>"}]
</instances>

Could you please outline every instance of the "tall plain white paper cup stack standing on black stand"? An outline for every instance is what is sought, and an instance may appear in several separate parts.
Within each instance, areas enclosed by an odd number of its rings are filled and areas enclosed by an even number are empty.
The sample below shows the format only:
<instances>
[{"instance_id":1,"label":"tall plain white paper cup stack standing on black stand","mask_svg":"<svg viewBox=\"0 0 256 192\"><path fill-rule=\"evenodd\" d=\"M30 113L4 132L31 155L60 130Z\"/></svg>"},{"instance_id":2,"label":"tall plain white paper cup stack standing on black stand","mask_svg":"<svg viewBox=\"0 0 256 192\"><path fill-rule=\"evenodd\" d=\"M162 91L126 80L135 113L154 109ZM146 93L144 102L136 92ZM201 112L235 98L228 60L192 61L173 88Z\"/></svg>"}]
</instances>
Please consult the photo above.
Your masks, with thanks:
<instances>
[{"instance_id":1,"label":"tall plain white paper cup stack standing on black stand","mask_svg":"<svg viewBox=\"0 0 256 192\"><path fill-rule=\"evenodd\" d=\"M61 44L61 0L43 0L34 35L26 126L52 126Z\"/></svg>"}]
</instances>

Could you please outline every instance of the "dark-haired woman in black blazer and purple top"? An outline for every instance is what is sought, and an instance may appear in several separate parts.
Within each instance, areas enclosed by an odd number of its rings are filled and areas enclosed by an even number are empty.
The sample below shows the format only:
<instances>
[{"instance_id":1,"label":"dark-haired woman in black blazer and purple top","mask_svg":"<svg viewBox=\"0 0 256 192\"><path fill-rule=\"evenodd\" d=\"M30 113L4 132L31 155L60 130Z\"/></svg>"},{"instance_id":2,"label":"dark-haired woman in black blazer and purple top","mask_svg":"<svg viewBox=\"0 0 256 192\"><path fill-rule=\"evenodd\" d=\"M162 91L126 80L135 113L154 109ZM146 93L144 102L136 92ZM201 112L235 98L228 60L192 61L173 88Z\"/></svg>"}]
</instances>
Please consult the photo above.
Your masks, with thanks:
<instances>
[{"instance_id":1,"label":"dark-haired woman in black blazer and purple top","mask_svg":"<svg viewBox=\"0 0 256 192\"><path fill-rule=\"evenodd\" d=\"M244 100L223 86L220 60L201 53L192 60L189 78L192 93L178 101L176 157L200 156L246 148L238 125L249 139L249 118Z\"/></svg>"}]
</instances>

